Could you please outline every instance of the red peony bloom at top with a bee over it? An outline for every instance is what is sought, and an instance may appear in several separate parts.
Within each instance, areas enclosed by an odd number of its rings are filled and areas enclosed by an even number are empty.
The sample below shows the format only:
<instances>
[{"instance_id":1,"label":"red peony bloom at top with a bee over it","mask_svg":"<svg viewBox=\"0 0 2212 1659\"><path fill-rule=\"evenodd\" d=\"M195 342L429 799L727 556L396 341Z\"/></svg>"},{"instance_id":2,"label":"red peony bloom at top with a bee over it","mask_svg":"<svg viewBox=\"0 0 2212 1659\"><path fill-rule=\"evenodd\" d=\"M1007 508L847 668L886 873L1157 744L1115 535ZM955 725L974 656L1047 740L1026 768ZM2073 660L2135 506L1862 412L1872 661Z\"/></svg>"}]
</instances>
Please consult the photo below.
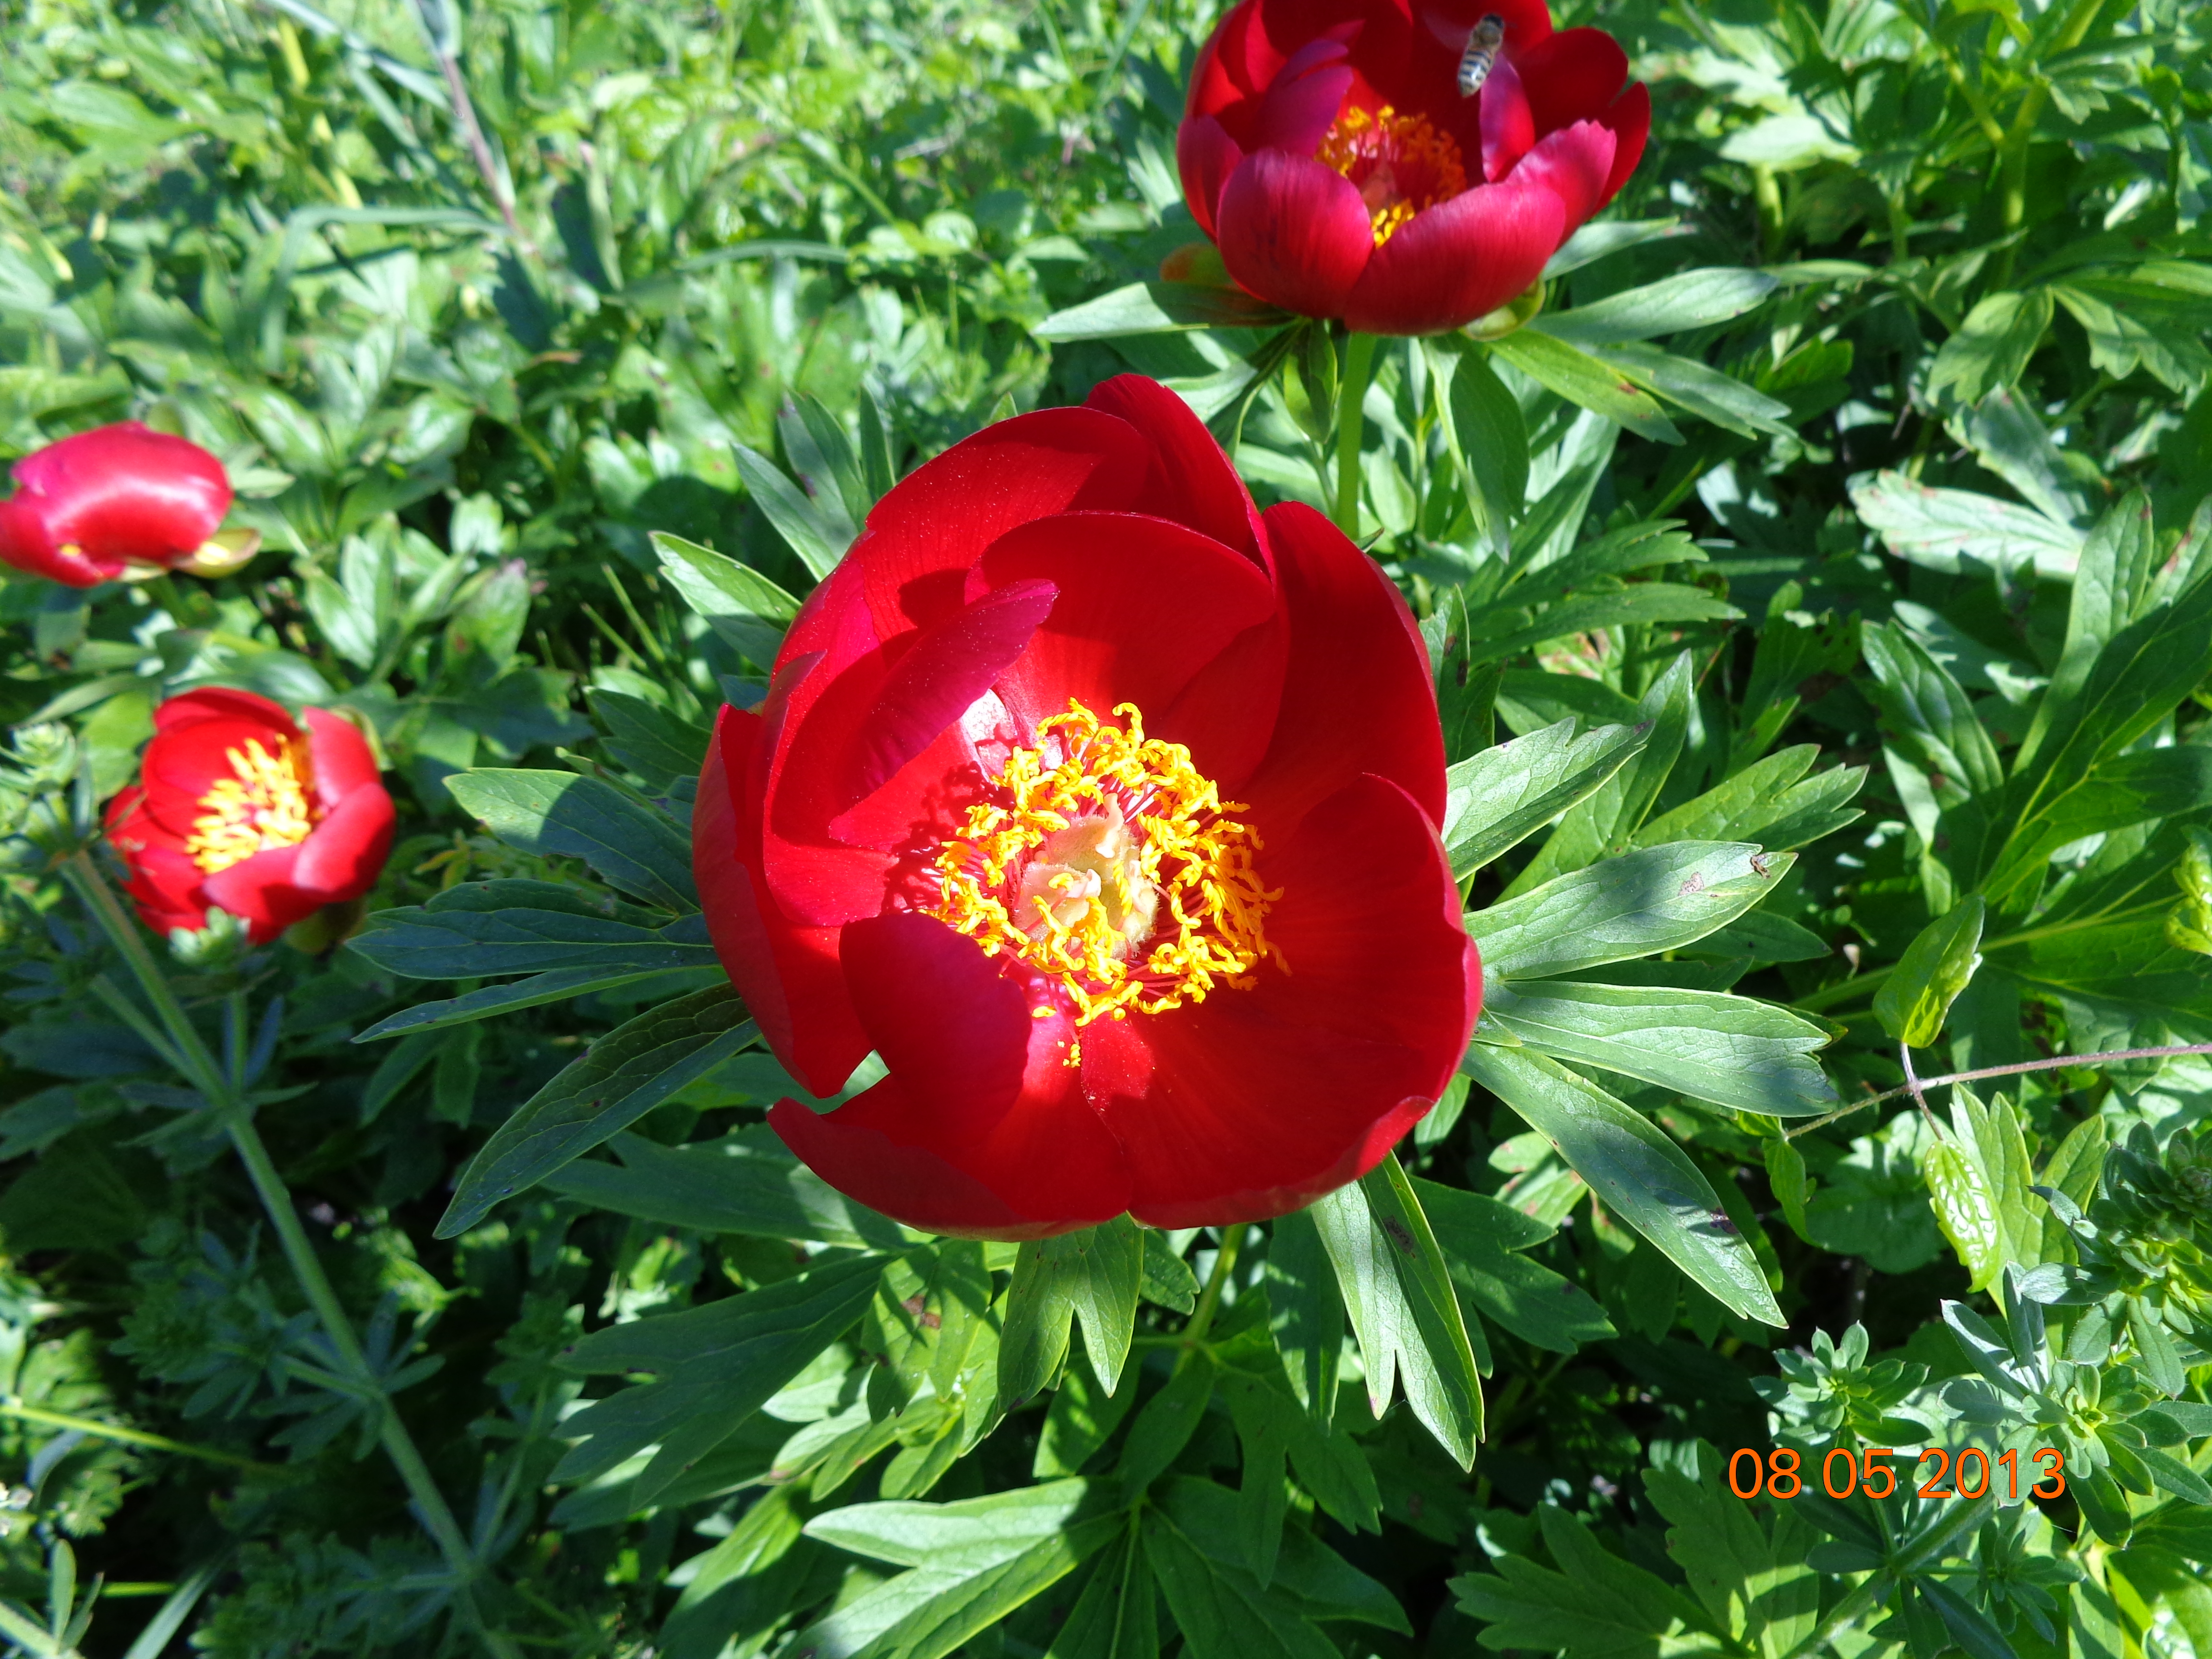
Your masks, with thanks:
<instances>
[{"instance_id":1,"label":"red peony bloom at top with a bee over it","mask_svg":"<svg viewBox=\"0 0 2212 1659\"><path fill-rule=\"evenodd\" d=\"M1504 46L1475 97L1460 53ZM1199 53L1183 197L1243 288L1360 334L1440 334L1526 290L1635 173L1650 93L1544 0L1243 0Z\"/></svg>"}]
</instances>

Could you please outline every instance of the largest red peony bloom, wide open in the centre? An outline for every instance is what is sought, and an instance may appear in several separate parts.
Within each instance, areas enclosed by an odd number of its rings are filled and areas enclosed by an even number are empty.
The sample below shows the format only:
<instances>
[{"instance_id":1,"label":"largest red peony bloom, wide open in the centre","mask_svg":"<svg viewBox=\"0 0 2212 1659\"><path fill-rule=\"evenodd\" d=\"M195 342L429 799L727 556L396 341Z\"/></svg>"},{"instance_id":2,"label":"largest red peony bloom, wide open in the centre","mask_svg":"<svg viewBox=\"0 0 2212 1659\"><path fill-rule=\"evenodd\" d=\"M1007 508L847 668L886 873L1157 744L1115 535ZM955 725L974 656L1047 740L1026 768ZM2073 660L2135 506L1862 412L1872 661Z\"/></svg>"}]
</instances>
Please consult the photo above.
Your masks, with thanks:
<instances>
[{"instance_id":1,"label":"largest red peony bloom, wide open in the centre","mask_svg":"<svg viewBox=\"0 0 2212 1659\"><path fill-rule=\"evenodd\" d=\"M1480 964L1398 591L1256 513L1137 376L869 513L695 807L714 947L818 1095L776 1133L933 1232L1294 1210L1444 1088Z\"/></svg>"}]
</instances>

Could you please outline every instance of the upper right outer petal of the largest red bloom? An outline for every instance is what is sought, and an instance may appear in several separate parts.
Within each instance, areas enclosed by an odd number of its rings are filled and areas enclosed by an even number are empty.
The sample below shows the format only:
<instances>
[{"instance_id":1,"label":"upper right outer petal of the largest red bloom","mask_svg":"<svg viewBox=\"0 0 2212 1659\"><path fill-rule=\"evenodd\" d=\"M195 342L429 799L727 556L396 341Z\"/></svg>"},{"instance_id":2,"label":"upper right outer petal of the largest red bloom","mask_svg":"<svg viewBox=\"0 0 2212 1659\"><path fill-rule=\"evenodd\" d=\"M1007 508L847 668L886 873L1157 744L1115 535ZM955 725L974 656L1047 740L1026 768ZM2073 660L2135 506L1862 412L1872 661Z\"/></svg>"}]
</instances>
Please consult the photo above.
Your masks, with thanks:
<instances>
[{"instance_id":1,"label":"upper right outer petal of the largest red bloom","mask_svg":"<svg viewBox=\"0 0 2212 1659\"><path fill-rule=\"evenodd\" d=\"M1431 823L1442 823L1436 681L1398 588L1312 507L1270 507L1267 533L1283 580L1290 661L1274 743L1239 787L1252 823L1270 841L1287 836L1363 772L1407 790Z\"/></svg>"}]
</instances>

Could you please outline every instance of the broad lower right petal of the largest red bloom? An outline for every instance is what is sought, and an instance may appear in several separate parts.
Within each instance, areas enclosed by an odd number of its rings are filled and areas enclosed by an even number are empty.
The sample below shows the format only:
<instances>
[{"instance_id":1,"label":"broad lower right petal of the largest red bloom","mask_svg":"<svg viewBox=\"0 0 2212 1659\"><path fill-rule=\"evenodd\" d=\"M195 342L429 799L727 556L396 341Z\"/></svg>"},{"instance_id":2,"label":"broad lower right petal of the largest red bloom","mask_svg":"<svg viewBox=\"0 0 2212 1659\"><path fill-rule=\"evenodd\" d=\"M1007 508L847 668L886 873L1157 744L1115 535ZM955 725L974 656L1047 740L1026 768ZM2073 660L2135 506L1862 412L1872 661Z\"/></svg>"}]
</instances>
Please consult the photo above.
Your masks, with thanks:
<instances>
[{"instance_id":1,"label":"broad lower right petal of the largest red bloom","mask_svg":"<svg viewBox=\"0 0 2212 1659\"><path fill-rule=\"evenodd\" d=\"M1458 889L1405 790L1365 776L1263 858L1290 973L1091 1026L1084 1088L1150 1225L1254 1221L1365 1175L1458 1066L1480 975Z\"/></svg>"}]
</instances>

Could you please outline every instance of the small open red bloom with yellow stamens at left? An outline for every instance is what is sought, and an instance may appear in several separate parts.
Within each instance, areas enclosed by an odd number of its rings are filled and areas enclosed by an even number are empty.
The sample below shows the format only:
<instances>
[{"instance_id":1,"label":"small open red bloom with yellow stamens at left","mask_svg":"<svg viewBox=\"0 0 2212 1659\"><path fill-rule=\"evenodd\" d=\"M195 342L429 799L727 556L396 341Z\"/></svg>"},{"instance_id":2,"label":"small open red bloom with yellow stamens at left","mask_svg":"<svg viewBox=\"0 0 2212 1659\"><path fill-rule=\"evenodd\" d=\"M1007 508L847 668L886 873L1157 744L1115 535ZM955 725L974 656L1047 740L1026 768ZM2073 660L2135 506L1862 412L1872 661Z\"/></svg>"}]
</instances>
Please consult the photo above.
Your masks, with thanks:
<instances>
[{"instance_id":1,"label":"small open red bloom with yellow stamens at left","mask_svg":"<svg viewBox=\"0 0 2212 1659\"><path fill-rule=\"evenodd\" d=\"M394 823L376 754L330 710L301 721L239 690L186 692L153 712L139 781L108 805L146 927L199 929L215 907L265 945L376 885Z\"/></svg>"}]
</instances>

